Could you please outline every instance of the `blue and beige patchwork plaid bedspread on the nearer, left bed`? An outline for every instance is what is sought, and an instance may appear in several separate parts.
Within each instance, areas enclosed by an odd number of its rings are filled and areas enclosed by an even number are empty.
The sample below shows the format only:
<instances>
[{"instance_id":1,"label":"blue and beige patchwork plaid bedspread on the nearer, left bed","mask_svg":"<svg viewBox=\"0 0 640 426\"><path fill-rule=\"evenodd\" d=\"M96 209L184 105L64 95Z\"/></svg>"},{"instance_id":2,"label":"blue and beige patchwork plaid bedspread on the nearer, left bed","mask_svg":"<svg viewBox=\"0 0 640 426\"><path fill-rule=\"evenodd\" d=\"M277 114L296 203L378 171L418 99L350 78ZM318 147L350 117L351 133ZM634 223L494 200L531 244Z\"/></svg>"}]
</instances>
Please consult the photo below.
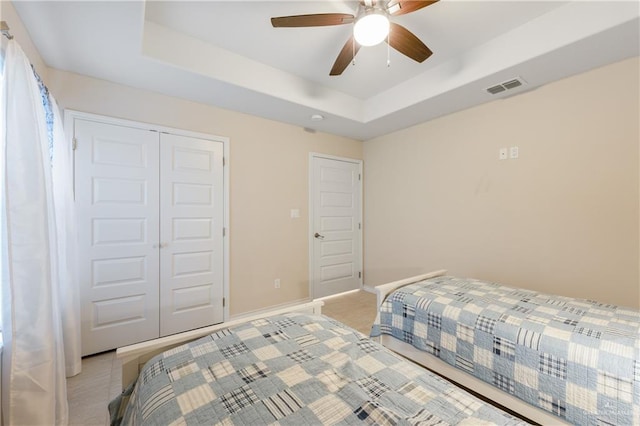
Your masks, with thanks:
<instances>
[{"instance_id":1,"label":"blue and beige patchwork plaid bedspread on the nearer, left bed","mask_svg":"<svg viewBox=\"0 0 640 426\"><path fill-rule=\"evenodd\" d=\"M140 373L123 424L522 424L323 316L253 321Z\"/></svg>"}]
</instances>

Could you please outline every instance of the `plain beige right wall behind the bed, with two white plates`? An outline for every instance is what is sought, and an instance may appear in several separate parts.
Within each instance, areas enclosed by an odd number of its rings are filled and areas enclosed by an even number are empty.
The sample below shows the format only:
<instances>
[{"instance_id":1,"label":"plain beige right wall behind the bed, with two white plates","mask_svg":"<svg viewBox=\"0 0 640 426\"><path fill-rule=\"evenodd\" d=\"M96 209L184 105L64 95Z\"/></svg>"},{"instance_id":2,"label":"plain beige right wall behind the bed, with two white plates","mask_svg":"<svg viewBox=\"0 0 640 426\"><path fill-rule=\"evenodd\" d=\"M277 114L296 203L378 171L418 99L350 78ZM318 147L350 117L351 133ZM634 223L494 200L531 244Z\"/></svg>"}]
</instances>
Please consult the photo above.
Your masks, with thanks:
<instances>
[{"instance_id":1,"label":"plain beige right wall behind the bed, with two white plates","mask_svg":"<svg viewBox=\"0 0 640 426\"><path fill-rule=\"evenodd\" d=\"M639 307L638 64L365 142L365 283L446 268Z\"/></svg>"}]
</instances>

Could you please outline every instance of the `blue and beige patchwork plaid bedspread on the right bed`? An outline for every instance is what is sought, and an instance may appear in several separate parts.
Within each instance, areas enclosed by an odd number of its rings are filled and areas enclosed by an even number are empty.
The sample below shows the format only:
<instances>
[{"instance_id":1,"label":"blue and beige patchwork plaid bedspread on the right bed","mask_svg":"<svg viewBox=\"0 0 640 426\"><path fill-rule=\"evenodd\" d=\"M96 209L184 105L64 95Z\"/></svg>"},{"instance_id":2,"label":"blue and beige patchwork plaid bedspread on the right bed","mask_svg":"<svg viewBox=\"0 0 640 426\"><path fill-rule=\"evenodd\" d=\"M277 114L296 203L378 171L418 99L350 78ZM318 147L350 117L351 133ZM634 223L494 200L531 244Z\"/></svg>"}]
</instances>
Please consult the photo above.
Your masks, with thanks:
<instances>
[{"instance_id":1,"label":"blue and beige patchwork plaid bedspread on the right bed","mask_svg":"<svg viewBox=\"0 0 640 426\"><path fill-rule=\"evenodd\" d=\"M570 423L640 424L639 311L437 277L391 293L381 333Z\"/></svg>"}]
</instances>

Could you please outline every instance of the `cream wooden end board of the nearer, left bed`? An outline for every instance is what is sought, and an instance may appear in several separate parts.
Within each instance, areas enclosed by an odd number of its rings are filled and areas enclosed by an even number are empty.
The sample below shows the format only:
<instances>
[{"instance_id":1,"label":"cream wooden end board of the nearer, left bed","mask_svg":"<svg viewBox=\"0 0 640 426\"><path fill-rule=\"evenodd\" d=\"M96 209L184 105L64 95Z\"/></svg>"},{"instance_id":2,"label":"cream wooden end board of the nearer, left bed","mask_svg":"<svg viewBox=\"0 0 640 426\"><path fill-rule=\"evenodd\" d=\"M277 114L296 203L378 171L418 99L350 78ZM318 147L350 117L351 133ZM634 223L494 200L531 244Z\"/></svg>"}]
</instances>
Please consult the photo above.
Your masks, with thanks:
<instances>
[{"instance_id":1,"label":"cream wooden end board of the nearer, left bed","mask_svg":"<svg viewBox=\"0 0 640 426\"><path fill-rule=\"evenodd\" d=\"M323 301L314 300L299 305L292 305L285 308L254 313L221 324L198 328L196 330L186 331L184 333L173 334L171 336L161 337L159 339L149 340L146 342L136 343L134 345L118 348L116 350L116 358L122 360L122 389L126 389L138 377L138 374L140 373L140 370L142 369L144 364L146 364L147 361L149 361L159 353L167 351L171 348L175 348L176 346L180 346L192 340L199 339L200 337L207 336L218 330L234 327L236 325L255 321L260 318L286 314L289 312L320 314L322 312L323 305Z\"/></svg>"}]
</instances>

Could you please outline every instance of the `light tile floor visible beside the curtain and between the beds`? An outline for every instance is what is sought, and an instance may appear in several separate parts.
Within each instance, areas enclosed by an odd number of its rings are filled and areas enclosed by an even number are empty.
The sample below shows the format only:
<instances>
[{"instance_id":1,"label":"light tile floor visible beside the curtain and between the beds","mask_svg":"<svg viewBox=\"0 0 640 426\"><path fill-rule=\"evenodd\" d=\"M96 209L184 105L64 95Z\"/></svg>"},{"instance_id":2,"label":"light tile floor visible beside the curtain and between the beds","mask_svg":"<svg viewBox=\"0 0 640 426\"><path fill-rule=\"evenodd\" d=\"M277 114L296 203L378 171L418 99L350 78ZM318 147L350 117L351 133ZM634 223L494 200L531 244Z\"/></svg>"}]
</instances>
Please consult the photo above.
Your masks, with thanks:
<instances>
[{"instance_id":1,"label":"light tile floor visible beside the curtain and between the beds","mask_svg":"<svg viewBox=\"0 0 640 426\"><path fill-rule=\"evenodd\" d=\"M368 335L376 316L376 296L358 291L327 299L322 312ZM120 393L121 370L115 351L82 360L82 373L67 379L70 425L109 424L107 404Z\"/></svg>"}]
</instances>

